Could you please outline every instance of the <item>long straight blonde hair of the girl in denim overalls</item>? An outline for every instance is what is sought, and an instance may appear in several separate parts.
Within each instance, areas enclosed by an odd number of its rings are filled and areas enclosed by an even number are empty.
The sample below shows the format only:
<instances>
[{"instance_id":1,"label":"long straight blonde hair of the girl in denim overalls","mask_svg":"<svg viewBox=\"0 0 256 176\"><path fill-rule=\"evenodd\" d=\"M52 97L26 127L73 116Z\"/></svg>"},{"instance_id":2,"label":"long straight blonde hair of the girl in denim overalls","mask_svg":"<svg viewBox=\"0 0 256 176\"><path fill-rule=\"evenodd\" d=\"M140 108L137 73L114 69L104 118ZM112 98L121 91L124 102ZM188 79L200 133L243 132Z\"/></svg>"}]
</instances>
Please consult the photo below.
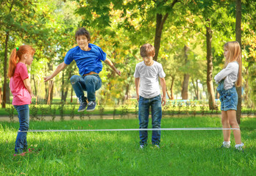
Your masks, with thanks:
<instances>
[{"instance_id":1,"label":"long straight blonde hair of the girl in denim overalls","mask_svg":"<svg viewBox=\"0 0 256 176\"><path fill-rule=\"evenodd\" d=\"M226 58L225 66L230 62L238 62L239 70L238 70L238 80L235 82L236 87L241 87L242 85L242 58L241 58L241 47L237 41L225 43L224 48L227 48L229 51L229 57Z\"/></svg>"}]
</instances>

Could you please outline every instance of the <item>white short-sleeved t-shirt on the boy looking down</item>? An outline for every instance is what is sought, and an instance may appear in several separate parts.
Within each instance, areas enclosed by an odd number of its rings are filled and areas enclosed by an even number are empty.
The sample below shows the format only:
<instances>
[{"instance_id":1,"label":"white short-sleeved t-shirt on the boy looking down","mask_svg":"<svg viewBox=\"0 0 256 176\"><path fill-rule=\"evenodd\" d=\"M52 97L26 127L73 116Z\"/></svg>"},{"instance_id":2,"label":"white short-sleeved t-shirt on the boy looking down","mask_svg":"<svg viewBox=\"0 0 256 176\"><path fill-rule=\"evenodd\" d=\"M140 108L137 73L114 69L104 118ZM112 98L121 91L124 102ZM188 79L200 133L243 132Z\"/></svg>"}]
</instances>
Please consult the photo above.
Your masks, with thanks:
<instances>
[{"instance_id":1,"label":"white short-sleeved t-shirt on the boy looking down","mask_svg":"<svg viewBox=\"0 0 256 176\"><path fill-rule=\"evenodd\" d=\"M166 73L160 63L155 62L151 66L146 66L140 62L135 67L135 78L140 78L139 95L143 98L154 98L160 95L158 78L164 78Z\"/></svg>"}]
</instances>

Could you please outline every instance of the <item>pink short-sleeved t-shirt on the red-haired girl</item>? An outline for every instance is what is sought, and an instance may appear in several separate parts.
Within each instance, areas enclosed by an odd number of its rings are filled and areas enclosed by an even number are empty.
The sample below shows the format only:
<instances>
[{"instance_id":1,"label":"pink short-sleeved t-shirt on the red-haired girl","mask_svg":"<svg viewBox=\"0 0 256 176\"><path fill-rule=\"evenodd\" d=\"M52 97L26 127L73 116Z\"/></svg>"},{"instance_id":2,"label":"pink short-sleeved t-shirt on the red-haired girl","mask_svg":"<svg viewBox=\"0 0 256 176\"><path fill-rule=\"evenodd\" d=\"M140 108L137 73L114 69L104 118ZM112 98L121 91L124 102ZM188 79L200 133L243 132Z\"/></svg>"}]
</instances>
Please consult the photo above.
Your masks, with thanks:
<instances>
[{"instance_id":1,"label":"pink short-sleeved t-shirt on the red-haired girl","mask_svg":"<svg viewBox=\"0 0 256 176\"><path fill-rule=\"evenodd\" d=\"M26 78L29 78L26 65L18 62L13 77L10 78L10 90L13 93L13 105L21 106L31 103L31 95L23 82Z\"/></svg>"}]
</instances>

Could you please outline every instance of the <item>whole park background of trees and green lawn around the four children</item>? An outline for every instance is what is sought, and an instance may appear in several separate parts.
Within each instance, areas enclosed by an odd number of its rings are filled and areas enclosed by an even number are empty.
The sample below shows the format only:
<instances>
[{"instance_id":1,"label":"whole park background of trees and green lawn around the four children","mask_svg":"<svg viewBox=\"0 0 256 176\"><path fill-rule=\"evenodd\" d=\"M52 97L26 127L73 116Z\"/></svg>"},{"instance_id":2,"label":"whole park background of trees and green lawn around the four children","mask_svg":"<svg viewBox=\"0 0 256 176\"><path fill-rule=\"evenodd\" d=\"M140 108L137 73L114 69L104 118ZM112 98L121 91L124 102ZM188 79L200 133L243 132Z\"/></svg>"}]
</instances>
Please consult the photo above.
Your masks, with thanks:
<instances>
[{"instance_id":1,"label":"whole park background of trees and green lawn around the four children","mask_svg":"<svg viewBox=\"0 0 256 176\"><path fill-rule=\"evenodd\" d=\"M256 175L256 1L0 0L0 175ZM76 46L85 27L121 76L104 65L93 112L78 113L74 62L43 82ZM28 67L29 130L138 129L133 74L139 48L151 43L166 73L168 103L161 128L221 128L217 84L223 45L237 40L243 59L238 122L244 152L221 148L222 131L163 131L160 149L139 150L138 131L29 132L25 157L14 157L19 123L7 78L13 48L36 49ZM96 118L98 120L94 120ZM242 117L242 118L241 118ZM110 119L110 120L107 120ZM50 120L50 121L49 121ZM150 125L149 125L150 128ZM151 132L149 132L149 139Z\"/></svg>"}]
</instances>

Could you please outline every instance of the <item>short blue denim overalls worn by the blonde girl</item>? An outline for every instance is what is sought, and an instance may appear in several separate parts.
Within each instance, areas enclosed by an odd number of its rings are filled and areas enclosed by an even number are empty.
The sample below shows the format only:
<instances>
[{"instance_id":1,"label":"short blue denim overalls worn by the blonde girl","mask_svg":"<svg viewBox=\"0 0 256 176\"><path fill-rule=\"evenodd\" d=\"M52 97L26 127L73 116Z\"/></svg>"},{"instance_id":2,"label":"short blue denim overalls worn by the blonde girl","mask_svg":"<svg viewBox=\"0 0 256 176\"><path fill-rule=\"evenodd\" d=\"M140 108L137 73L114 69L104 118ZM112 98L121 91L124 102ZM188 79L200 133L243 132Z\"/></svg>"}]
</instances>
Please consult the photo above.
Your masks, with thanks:
<instances>
[{"instance_id":1,"label":"short blue denim overalls worn by the blonde girl","mask_svg":"<svg viewBox=\"0 0 256 176\"><path fill-rule=\"evenodd\" d=\"M217 87L221 100L221 111L237 110L238 106L238 93L235 87L224 89L224 81L221 81Z\"/></svg>"}]
</instances>

